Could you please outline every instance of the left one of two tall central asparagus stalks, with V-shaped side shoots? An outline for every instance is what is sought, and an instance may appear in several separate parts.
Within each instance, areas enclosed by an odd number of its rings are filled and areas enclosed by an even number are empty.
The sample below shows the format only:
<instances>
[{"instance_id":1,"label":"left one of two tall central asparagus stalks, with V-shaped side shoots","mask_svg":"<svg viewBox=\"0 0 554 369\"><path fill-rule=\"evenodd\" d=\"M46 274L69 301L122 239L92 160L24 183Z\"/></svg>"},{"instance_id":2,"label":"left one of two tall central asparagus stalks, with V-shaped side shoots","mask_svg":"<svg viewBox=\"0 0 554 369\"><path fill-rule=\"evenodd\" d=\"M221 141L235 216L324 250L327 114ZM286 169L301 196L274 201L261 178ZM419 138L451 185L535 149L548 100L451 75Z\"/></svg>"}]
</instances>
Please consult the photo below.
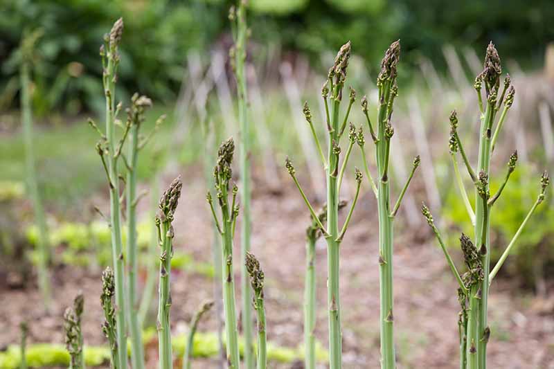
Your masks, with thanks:
<instances>
[{"instance_id":1,"label":"left one of two tall central asparagus stalks, with V-shaped side shoots","mask_svg":"<svg viewBox=\"0 0 554 369\"><path fill-rule=\"evenodd\" d=\"M288 158L285 162L285 167L287 168L290 176L294 180L298 191L300 192L307 208L310 210L312 219L316 222L321 233L327 240L328 246L328 315L329 315L329 351L330 351L330 368L338 369L342 365L342 332L341 332L341 309L340 309L340 291L339 291L339 254L340 254L340 245L343 240L343 237L350 223L350 218L352 217L352 212L354 211L360 185L361 185L361 172L355 170L355 178L357 181L357 190L356 195L352 201L352 206L350 206L350 211L346 217L346 221L343 224L343 227L339 231L339 190L341 182L339 180L339 172L343 172L341 169L339 171L339 156L341 154L341 147L339 146L340 138L343 135L344 129L346 128L346 123L348 122L348 114L350 113L350 107L354 102L354 94L350 93L350 102L348 110L344 118L339 119L341 100L343 95L343 87L346 82L346 70L348 67L348 60L350 59L350 42L344 44L337 57L334 60L334 65L329 70L328 81L323 85L322 96L323 102L325 103L325 117L327 120L327 132L328 132L328 156L325 159L323 156L323 151L321 150L321 145L319 144L319 139L315 135L315 130L312 129L312 135L314 136L314 141L316 141L316 146L318 147L319 154L321 156L321 161L323 168L327 174L327 227L323 226L319 220L318 215L315 213L312 204L307 199L303 189L296 179L296 170L292 165L292 161ZM330 94L330 98L328 99ZM331 108L329 109L329 100L331 103ZM307 104L304 105L304 115L306 121L310 127L312 127L312 113ZM343 159L342 167L346 167L348 163L348 156Z\"/></svg>"}]
</instances>

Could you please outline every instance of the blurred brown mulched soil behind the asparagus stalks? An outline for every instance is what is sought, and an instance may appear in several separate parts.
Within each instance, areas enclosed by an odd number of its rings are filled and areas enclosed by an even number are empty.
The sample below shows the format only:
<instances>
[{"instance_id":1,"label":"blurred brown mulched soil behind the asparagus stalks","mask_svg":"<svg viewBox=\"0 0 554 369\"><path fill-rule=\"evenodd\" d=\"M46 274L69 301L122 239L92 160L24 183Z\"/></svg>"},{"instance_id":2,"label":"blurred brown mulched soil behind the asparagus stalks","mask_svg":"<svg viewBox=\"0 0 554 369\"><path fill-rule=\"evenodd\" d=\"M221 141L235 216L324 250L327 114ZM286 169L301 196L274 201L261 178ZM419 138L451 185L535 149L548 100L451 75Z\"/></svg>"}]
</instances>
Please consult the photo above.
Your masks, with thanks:
<instances>
[{"instance_id":1,"label":"blurred brown mulched soil behind the asparagus stalks","mask_svg":"<svg viewBox=\"0 0 554 369\"><path fill-rule=\"evenodd\" d=\"M195 260L210 262L211 215L201 173L198 168L184 171L185 184L175 216L175 248L191 253ZM170 180L167 176L165 183ZM296 348L303 339L304 245L309 219L292 181L283 177L281 182L283 190L275 191L262 179L254 179L252 251L265 271L268 339ZM415 183L413 191L419 200L423 191L418 189L418 184ZM312 192L307 184L305 190ZM366 192L360 197L341 246L343 368L346 369L379 368L377 205L370 195ZM142 206L143 210L148 208L148 201L143 201ZM409 228L404 216L400 213L395 227L394 321L398 368L458 368L456 282L427 225L420 223ZM235 237L235 255L239 254L239 238L240 235ZM456 251L453 253L459 258ZM240 271L236 262L235 271L238 281ZM324 240L318 243L316 272L319 300L316 336L325 346ZM44 313L34 282L28 283L25 289L0 286L0 346L19 341L22 319L30 322L29 342L63 343L64 307L71 304L79 289L84 291L86 299L84 340L90 345L105 344L100 330L103 321L99 305L100 270L58 266L53 273L53 286L54 301L49 314ZM550 296L554 296L552 287ZM173 273L173 333L185 334L186 323L199 304L212 297L211 278L195 273ZM517 289L515 282L498 278L492 286L489 304L490 368L554 368L553 298L536 298L530 292ZM199 331L215 330L215 327L215 314L211 313L200 323ZM147 349L148 368L156 368L156 346ZM197 360L193 366L216 368L215 360ZM301 368L301 365L270 363L270 367Z\"/></svg>"}]
</instances>

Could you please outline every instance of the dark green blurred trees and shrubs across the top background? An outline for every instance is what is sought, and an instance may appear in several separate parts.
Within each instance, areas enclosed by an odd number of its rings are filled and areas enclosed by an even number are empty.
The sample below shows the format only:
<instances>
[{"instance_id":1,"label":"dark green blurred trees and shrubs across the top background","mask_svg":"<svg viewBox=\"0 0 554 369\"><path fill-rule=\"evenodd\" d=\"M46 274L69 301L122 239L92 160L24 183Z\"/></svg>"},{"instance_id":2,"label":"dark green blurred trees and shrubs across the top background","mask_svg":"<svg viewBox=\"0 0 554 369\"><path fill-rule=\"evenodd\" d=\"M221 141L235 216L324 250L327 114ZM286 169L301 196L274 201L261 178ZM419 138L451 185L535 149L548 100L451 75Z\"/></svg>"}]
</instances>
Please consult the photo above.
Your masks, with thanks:
<instances>
[{"instance_id":1,"label":"dark green blurred trees and shrubs across the top background","mask_svg":"<svg viewBox=\"0 0 554 369\"><path fill-rule=\"evenodd\" d=\"M42 28L35 63L35 107L77 112L102 103L98 47L125 19L120 91L175 99L191 48L207 51L229 28L229 0L0 0L0 108L14 104L17 47L25 28ZM423 55L444 68L442 47L470 46L483 54L490 41L505 58L542 62L554 40L551 0L249 0L253 41L308 53L347 39L368 66L378 66L394 39L407 65ZM8 96L8 98L6 98ZM125 98L122 96L122 98Z\"/></svg>"}]
</instances>

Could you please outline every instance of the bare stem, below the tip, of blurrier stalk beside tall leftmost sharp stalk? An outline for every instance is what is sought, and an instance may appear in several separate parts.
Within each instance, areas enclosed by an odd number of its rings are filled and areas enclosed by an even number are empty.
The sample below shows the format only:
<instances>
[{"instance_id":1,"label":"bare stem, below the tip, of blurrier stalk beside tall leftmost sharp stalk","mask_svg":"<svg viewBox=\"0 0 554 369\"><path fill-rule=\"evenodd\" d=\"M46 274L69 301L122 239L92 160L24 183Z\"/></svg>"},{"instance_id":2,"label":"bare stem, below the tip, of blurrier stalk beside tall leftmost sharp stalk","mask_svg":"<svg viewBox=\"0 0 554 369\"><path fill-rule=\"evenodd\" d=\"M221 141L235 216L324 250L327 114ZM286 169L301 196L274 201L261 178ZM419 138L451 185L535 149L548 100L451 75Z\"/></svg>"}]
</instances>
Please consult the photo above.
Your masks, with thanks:
<instances>
[{"instance_id":1,"label":"bare stem, below the tip, of blurrier stalk beside tall leftmost sharp stalk","mask_svg":"<svg viewBox=\"0 0 554 369\"><path fill-rule=\"evenodd\" d=\"M127 253L129 255L129 328L131 332L131 363L133 369L144 369L142 329L139 323L139 296L137 294L136 245L136 165L138 163L139 125L132 124L129 134L129 163L127 171Z\"/></svg>"}]
</instances>

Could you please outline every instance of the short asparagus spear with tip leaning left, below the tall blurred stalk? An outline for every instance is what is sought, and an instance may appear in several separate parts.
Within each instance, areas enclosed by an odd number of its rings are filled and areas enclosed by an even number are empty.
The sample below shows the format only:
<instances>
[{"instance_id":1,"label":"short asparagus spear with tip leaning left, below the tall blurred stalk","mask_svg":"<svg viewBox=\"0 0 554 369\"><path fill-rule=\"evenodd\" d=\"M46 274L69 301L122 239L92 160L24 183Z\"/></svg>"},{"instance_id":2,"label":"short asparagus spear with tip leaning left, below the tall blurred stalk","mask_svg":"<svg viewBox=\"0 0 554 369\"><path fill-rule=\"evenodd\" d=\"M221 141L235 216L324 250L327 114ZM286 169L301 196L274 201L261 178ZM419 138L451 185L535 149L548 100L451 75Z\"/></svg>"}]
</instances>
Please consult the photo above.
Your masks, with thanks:
<instances>
[{"instance_id":1,"label":"short asparagus spear with tip leaning left, below the tall blurred stalk","mask_svg":"<svg viewBox=\"0 0 554 369\"><path fill-rule=\"evenodd\" d=\"M247 259L244 262L250 276L250 284L254 291L253 306L258 313L258 357L256 358L256 368L265 369L267 367L267 325L265 324L264 307L264 271L260 268L260 262L252 253L247 253Z\"/></svg>"}]
</instances>

